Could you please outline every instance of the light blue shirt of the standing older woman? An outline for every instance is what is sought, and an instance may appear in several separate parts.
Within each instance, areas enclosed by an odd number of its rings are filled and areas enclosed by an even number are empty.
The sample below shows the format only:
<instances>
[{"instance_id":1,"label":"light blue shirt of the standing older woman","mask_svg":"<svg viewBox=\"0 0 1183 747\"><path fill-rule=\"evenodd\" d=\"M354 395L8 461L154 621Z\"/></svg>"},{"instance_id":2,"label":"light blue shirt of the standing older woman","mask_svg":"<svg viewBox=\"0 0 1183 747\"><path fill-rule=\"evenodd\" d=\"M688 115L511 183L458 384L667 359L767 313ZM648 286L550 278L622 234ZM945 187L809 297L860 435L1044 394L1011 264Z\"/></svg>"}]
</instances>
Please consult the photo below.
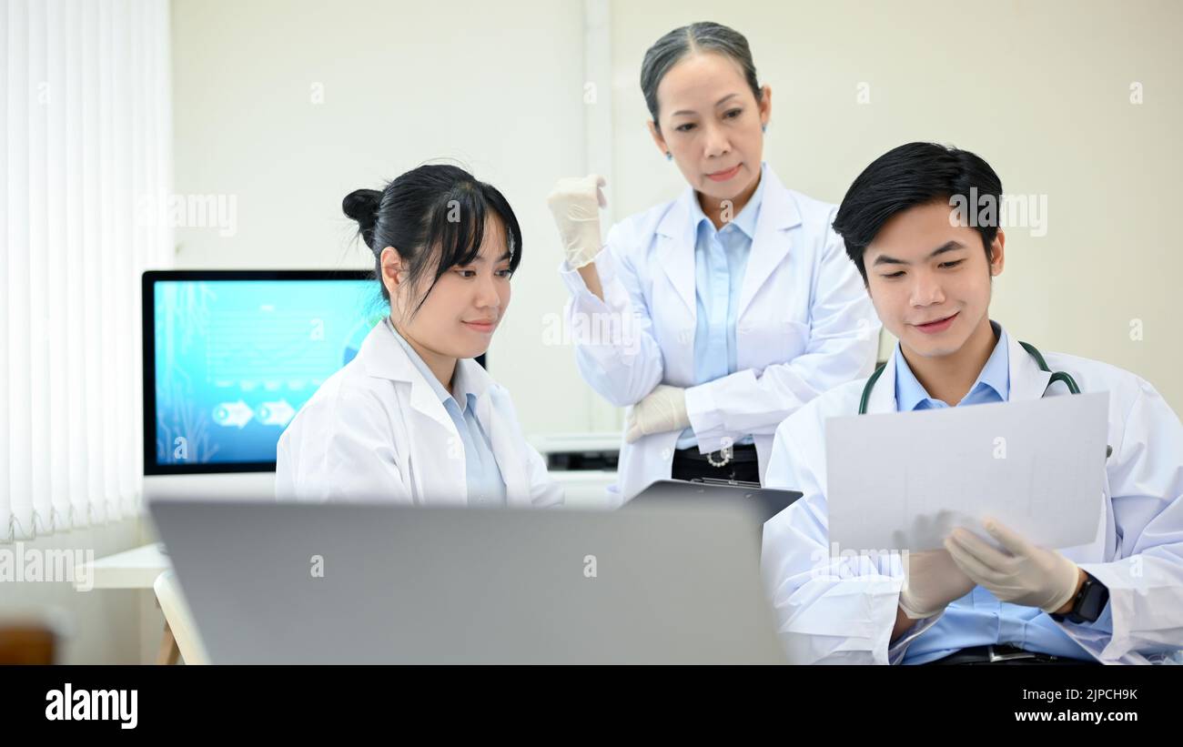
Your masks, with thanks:
<instances>
[{"instance_id":1,"label":"light blue shirt of the standing older woman","mask_svg":"<svg viewBox=\"0 0 1183 747\"><path fill-rule=\"evenodd\" d=\"M739 214L716 229L703 213L698 200L691 200L691 221L694 223L694 384L706 384L735 374L736 319L739 316L739 291L743 287L751 241L756 236L756 219L764 197L764 171L761 164L759 184ZM736 441L751 443L751 436ZM677 448L686 449L698 443L693 428L678 436Z\"/></svg>"}]
</instances>

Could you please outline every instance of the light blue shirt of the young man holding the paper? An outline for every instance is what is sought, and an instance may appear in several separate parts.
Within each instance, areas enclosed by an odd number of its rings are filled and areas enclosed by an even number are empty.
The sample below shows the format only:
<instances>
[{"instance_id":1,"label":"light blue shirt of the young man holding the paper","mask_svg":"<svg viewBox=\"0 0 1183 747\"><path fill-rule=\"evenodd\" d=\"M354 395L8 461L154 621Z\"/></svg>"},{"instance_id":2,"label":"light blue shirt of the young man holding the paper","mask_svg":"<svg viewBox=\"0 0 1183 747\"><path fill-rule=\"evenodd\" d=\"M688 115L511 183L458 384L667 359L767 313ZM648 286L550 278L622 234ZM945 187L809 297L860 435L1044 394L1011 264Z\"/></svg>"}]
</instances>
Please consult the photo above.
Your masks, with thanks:
<instances>
[{"instance_id":1,"label":"light blue shirt of the young man holding the paper","mask_svg":"<svg viewBox=\"0 0 1183 747\"><path fill-rule=\"evenodd\" d=\"M994 323L991 321L991 325ZM977 381L970 387L969 394L957 403L984 404L988 402L1007 402L1010 400L1010 360L1007 352L1007 332L994 325L998 342L994 352L987 359ZM946 408L948 403L933 400L924 389L907 362L896 347L896 409L900 413ZM1091 626L1112 630L1110 605ZM900 637L906 638L907 635ZM997 597L982 586L957 599L948 608L940 619L909 644L904 651L904 664L923 664L961 649L975 645L1009 643L1028 651L1053 654L1072 658L1092 660L1093 657L1073 641L1042 610L1000 602ZM890 654L888 654L890 658Z\"/></svg>"}]
</instances>

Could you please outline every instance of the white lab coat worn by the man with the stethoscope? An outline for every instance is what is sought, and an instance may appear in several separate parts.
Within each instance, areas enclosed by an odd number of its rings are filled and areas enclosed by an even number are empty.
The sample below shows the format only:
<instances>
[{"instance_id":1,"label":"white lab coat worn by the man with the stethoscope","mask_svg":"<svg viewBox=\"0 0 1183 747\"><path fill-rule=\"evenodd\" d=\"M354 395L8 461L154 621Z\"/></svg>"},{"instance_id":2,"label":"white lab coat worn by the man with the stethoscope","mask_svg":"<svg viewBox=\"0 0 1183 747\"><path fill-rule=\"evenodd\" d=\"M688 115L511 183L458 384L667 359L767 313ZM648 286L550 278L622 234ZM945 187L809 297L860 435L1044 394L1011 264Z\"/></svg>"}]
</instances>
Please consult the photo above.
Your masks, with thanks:
<instances>
[{"instance_id":1,"label":"white lab coat worn by the man with the stethoscope","mask_svg":"<svg viewBox=\"0 0 1183 747\"><path fill-rule=\"evenodd\" d=\"M896 411L894 355L867 413ZM1010 400L1042 396L1049 374L1014 337L1008 355ZM1101 662L1162 661L1183 648L1183 426L1153 387L1133 374L1074 356L1045 358L1053 371L1071 374L1081 391L1110 392L1107 443L1113 448L1097 504L1097 539L1059 548L1108 587L1113 635L1087 624L1059 625ZM762 567L794 663L898 663L907 643L940 617L920 621L892 644L888 657L903 584L898 558L830 559L825 422L856 414L865 383L817 397L776 431L767 483L803 495L764 525ZM1047 391L1067 394L1061 383Z\"/></svg>"}]
</instances>

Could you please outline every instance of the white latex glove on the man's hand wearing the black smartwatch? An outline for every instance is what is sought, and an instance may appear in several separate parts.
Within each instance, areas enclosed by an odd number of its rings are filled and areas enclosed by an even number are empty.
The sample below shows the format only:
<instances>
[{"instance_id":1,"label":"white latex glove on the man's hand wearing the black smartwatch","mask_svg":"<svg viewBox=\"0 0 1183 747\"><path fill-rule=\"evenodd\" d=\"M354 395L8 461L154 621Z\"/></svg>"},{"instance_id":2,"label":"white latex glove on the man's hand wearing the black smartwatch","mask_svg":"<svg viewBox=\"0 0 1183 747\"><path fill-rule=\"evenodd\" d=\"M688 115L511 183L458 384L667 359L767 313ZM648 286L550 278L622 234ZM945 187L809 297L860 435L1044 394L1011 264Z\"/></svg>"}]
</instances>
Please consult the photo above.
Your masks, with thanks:
<instances>
[{"instance_id":1,"label":"white latex glove on the man's hand wearing the black smartwatch","mask_svg":"<svg viewBox=\"0 0 1183 747\"><path fill-rule=\"evenodd\" d=\"M983 521L990 537L1006 551L991 547L964 527L945 538L945 547L957 566L1003 602L1054 612L1077 593L1080 569L1054 550L1027 541L994 519Z\"/></svg>"}]
</instances>

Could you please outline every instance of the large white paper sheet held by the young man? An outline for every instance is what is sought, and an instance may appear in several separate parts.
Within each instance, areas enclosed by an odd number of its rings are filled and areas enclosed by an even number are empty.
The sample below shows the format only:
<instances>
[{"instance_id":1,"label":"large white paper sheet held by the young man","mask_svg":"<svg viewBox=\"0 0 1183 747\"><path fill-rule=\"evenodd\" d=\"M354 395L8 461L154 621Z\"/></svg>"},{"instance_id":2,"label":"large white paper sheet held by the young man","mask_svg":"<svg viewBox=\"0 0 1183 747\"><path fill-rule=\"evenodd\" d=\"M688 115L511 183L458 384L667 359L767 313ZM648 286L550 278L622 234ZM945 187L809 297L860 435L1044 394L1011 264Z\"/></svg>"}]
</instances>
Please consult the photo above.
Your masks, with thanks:
<instances>
[{"instance_id":1,"label":"large white paper sheet held by the young man","mask_svg":"<svg viewBox=\"0 0 1183 747\"><path fill-rule=\"evenodd\" d=\"M1097 537L1108 392L826 421L829 541L932 550L994 517L1043 547Z\"/></svg>"}]
</instances>

